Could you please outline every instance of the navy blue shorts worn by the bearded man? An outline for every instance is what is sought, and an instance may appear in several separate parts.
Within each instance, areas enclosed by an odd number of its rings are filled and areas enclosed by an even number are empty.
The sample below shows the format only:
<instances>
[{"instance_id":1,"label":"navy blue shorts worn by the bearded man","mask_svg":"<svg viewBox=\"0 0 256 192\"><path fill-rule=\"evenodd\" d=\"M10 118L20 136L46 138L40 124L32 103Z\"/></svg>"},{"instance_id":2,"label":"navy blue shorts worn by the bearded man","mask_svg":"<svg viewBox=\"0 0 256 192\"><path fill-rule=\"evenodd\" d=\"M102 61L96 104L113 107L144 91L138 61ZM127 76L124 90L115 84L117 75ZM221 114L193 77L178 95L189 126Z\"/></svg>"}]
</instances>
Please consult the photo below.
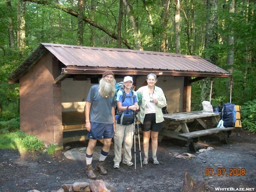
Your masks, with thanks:
<instances>
[{"instance_id":1,"label":"navy blue shorts worn by the bearded man","mask_svg":"<svg viewBox=\"0 0 256 192\"><path fill-rule=\"evenodd\" d=\"M114 137L114 125L91 122L91 132L87 133L89 139L110 139Z\"/></svg>"}]
</instances>

